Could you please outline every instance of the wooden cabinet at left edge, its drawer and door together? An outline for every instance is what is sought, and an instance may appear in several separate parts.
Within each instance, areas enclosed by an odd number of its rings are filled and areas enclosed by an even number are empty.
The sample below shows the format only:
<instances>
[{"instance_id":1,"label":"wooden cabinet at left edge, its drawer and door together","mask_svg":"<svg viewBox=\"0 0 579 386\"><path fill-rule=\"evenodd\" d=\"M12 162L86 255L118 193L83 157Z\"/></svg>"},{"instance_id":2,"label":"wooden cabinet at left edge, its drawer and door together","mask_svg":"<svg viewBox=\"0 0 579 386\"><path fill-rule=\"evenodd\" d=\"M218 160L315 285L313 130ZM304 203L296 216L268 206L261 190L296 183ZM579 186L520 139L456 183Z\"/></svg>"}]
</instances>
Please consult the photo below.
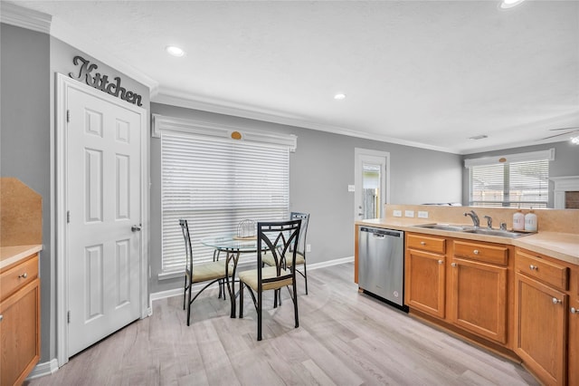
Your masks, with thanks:
<instances>
[{"instance_id":1,"label":"wooden cabinet at left edge, its drawer and door together","mask_svg":"<svg viewBox=\"0 0 579 386\"><path fill-rule=\"evenodd\" d=\"M0 384L22 384L40 359L38 253L0 272Z\"/></svg>"}]
</instances>

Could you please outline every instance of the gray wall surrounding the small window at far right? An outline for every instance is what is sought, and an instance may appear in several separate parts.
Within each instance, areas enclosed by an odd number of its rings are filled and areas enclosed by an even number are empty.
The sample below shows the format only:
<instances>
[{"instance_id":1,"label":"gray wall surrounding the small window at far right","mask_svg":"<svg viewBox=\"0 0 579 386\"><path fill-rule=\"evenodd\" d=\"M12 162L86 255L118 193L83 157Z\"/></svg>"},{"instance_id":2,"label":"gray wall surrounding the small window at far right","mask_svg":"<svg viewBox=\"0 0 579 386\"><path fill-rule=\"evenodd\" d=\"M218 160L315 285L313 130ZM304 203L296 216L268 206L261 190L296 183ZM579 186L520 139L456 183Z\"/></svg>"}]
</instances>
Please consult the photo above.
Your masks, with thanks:
<instances>
[{"instance_id":1,"label":"gray wall surrounding the small window at far right","mask_svg":"<svg viewBox=\"0 0 579 386\"><path fill-rule=\"evenodd\" d=\"M564 137L562 137L564 138ZM549 178L579 176L579 146L572 144L569 140L562 142L546 143L543 145L526 146L506 150L486 151L465 155L462 159L478 159L482 157L504 156L516 153L526 153L528 151L539 151L555 149L555 160L549 162ZM464 162L462 163L464 166ZM553 207L553 181L549 182L548 207ZM469 169L462 169L462 203L469 204Z\"/></svg>"}]
</instances>

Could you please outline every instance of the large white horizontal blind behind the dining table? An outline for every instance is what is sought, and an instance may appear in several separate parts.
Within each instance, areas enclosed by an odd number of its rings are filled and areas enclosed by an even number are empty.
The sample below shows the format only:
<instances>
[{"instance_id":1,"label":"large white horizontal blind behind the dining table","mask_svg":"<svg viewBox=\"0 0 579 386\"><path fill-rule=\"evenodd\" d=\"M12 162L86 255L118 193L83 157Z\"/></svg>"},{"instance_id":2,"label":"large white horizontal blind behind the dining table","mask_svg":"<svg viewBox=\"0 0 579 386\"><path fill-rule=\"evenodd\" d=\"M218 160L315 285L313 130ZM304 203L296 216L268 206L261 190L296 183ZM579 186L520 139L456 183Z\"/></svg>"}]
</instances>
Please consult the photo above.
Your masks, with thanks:
<instances>
[{"instance_id":1,"label":"large white horizontal blind behind the dining table","mask_svg":"<svg viewBox=\"0 0 579 386\"><path fill-rule=\"evenodd\" d=\"M163 273L185 269L179 218L187 219L195 261L213 260L205 236L234 234L243 219L289 217L289 147L163 131ZM240 260L241 261L241 260Z\"/></svg>"}]
</instances>

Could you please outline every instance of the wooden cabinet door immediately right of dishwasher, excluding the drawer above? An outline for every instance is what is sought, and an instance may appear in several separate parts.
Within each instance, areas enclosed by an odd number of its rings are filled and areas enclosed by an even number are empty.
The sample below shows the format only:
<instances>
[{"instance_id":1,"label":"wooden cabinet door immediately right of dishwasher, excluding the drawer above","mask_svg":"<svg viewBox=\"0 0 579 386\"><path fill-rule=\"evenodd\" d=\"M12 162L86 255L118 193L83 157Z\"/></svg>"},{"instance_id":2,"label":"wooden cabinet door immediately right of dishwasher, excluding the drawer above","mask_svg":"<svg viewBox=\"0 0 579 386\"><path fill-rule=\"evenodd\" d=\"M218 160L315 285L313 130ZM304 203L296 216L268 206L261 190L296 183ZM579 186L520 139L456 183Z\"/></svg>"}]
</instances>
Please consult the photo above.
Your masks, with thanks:
<instances>
[{"instance_id":1,"label":"wooden cabinet door immediately right of dishwasher, excluding the drawer above","mask_svg":"<svg viewBox=\"0 0 579 386\"><path fill-rule=\"evenodd\" d=\"M445 256L414 249L406 250L406 304L427 314L444 318Z\"/></svg>"}]
</instances>

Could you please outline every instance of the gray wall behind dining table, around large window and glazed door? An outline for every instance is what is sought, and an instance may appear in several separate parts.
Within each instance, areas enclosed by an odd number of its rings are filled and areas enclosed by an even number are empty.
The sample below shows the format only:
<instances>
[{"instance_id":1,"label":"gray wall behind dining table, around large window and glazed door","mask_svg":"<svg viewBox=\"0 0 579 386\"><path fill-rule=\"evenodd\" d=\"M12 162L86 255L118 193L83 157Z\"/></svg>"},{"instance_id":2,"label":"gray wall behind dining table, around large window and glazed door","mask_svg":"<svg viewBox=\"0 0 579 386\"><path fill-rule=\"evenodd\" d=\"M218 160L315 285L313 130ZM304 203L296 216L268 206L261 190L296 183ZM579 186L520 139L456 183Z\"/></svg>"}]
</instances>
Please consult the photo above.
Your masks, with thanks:
<instances>
[{"instance_id":1,"label":"gray wall behind dining table, around large window and glazed door","mask_svg":"<svg viewBox=\"0 0 579 386\"><path fill-rule=\"evenodd\" d=\"M276 131L298 136L289 156L290 210L310 213L308 263L354 256L355 148L390 152L391 203L460 201L461 158L439 151L362 140L323 131L253 121L206 111L151 103L151 112L209 121L247 130ZM151 140L151 293L178 288L182 279L157 280L161 269L160 140Z\"/></svg>"}]
</instances>

